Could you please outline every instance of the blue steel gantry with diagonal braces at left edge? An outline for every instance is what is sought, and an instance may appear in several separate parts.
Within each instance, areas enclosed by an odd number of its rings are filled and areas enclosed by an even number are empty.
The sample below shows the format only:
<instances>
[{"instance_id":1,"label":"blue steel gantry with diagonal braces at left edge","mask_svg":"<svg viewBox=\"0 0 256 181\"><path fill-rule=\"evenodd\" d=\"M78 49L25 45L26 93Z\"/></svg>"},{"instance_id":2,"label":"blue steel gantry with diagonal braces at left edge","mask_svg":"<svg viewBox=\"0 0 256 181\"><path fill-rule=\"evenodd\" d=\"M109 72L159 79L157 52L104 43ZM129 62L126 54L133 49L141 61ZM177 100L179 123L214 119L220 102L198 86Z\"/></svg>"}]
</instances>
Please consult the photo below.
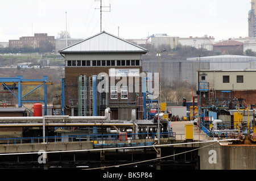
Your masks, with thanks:
<instances>
[{"instance_id":1,"label":"blue steel gantry with diagonal braces at left edge","mask_svg":"<svg viewBox=\"0 0 256 181\"><path fill-rule=\"evenodd\" d=\"M52 85L52 82L48 82L47 79L48 76L43 76L43 79L23 79L23 76L0 77L0 85L3 85L4 89L8 89L18 99L18 107L25 107L22 104L23 102L44 102L44 114L47 115L47 85ZM22 96L22 85L37 85L37 87ZM41 86L44 86L44 100L22 100L25 96ZM13 87L18 89L18 95L14 91L11 91L11 89L14 89Z\"/></svg>"}]
</instances>

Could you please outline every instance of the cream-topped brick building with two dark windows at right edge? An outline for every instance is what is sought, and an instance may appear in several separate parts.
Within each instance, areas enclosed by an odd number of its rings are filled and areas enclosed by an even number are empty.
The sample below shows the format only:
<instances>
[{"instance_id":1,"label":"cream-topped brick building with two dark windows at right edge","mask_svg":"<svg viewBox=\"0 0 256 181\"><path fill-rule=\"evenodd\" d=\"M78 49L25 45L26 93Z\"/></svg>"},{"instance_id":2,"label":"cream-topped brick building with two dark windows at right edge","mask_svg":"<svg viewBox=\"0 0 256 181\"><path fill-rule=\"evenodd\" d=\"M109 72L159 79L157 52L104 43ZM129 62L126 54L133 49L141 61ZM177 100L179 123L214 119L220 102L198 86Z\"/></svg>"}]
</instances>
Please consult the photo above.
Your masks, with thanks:
<instances>
[{"instance_id":1,"label":"cream-topped brick building with two dark windows at right edge","mask_svg":"<svg viewBox=\"0 0 256 181\"><path fill-rule=\"evenodd\" d=\"M255 105L256 70L197 70L197 91L201 104Z\"/></svg>"}]
</instances>

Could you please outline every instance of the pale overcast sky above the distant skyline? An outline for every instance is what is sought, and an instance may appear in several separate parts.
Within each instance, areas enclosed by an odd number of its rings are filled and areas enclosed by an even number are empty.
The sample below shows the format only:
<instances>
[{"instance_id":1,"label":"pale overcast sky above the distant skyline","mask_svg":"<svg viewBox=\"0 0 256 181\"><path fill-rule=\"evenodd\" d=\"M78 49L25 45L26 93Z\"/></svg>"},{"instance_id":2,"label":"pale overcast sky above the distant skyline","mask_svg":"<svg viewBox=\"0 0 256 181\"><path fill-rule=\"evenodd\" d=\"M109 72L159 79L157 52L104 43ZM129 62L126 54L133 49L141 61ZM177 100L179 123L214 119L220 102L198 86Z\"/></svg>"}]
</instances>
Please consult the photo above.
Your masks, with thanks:
<instances>
[{"instance_id":1,"label":"pale overcast sky above the distant skyline","mask_svg":"<svg viewBox=\"0 0 256 181\"><path fill-rule=\"evenodd\" d=\"M248 36L251 0L102 0L102 30L123 39L154 33L169 36L214 36L215 40ZM1 2L0 41L48 33L67 27L71 37L100 32L100 1L10 0ZM109 11L108 7L103 8Z\"/></svg>"}]
</instances>

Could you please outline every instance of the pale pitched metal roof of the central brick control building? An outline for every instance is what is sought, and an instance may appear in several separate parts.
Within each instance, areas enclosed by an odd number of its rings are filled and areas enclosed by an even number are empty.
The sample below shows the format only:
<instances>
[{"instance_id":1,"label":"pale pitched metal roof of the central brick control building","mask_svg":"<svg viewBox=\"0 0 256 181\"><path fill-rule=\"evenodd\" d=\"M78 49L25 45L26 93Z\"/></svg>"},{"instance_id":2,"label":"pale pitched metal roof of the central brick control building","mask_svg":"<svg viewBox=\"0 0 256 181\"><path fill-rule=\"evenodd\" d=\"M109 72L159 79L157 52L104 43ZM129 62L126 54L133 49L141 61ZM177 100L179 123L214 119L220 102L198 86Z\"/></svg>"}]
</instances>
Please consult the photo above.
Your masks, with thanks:
<instances>
[{"instance_id":1,"label":"pale pitched metal roof of the central brick control building","mask_svg":"<svg viewBox=\"0 0 256 181\"><path fill-rule=\"evenodd\" d=\"M147 53L148 50L105 31L59 50L59 53Z\"/></svg>"}]
</instances>

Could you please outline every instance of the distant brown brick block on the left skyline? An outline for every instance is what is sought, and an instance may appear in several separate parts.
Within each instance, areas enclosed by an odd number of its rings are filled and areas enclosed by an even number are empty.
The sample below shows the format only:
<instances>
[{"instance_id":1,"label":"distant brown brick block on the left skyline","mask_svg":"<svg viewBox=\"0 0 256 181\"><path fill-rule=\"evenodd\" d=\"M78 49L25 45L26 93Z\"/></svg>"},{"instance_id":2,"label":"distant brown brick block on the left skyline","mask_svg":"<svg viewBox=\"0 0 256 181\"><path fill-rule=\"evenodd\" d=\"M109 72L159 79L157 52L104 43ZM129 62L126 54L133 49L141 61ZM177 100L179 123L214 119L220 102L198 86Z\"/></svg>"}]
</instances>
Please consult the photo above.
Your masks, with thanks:
<instances>
[{"instance_id":1,"label":"distant brown brick block on the left skyline","mask_svg":"<svg viewBox=\"0 0 256 181\"><path fill-rule=\"evenodd\" d=\"M9 47L39 47L40 41L48 41L55 47L55 37L47 33L34 33L34 36L22 36L19 40L9 40Z\"/></svg>"}]
</instances>

